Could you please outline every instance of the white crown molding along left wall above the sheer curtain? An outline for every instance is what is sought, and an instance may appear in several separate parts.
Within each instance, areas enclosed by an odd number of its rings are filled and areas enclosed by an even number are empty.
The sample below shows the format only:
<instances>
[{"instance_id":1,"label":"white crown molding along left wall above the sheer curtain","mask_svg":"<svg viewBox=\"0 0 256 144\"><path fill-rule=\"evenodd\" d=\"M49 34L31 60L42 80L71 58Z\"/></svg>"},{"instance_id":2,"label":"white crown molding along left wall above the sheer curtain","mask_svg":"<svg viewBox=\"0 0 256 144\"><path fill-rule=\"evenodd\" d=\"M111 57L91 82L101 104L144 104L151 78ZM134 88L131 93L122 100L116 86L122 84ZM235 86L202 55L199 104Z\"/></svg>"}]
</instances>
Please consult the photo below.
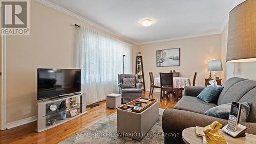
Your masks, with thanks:
<instances>
[{"instance_id":1,"label":"white crown molding along left wall above the sheer curtain","mask_svg":"<svg viewBox=\"0 0 256 144\"><path fill-rule=\"evenodd\" d=\"M129 42L137 44L137 45L139 44L138 42L136 42L134 40L131 40L131 39L126 38L126 37L123 37L123 36L121 36L121 34L118 34L118 33L114 32L114 31L111 31L111 30L109 30L109 29L99 25L98 23L95 23L95 22L93 22L93 21L91 21L91 20L89 20L87 18L84 18L84 17L82 17L82 16L80 16L80 15L74 13L74 12L71 12L71 11L65 9L65 8L62 8L62 7L56 5L56 4L52 3L52 2L49 2L47 0L36 0L36 1L39 2L39 3L45 4L46 6L49 6L51 8L54 8L54 9L60 11L60 12L68 14L68 15L74 17L74 18L77 18L77 19L79 19L79 20L81 20L83 22L86 22L89 25L92 25L93 27L95 27L97 29L103 30L103 31L108 32L108 33L110 33L112 35L115 35L115 36L117 36L119 38L122 38L123 40L129 41Z\"/></svg>"}]
</instances>

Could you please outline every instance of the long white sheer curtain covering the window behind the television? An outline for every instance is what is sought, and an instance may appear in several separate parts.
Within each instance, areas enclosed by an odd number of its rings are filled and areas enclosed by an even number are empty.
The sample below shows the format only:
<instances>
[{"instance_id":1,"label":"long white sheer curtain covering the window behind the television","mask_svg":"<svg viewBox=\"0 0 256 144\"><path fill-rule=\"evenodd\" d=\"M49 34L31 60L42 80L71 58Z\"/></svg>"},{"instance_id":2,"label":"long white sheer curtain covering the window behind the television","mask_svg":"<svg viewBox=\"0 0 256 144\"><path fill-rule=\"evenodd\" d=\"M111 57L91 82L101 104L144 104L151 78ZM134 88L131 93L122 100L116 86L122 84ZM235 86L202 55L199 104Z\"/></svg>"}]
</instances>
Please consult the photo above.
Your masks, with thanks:
<instances>
[{"instance_id":1,"label":"long white sheer curtain covering the window behind the television","mask_svg":"<svg viewBox=\"0 0 256 144\"><path fill-rule=\"evenodd\" d=\"M117 75L132 74L132 45L85 26L76 28L76 63L81 68L82 91L87 103L106 99L118 92Z\"/></svg>"}]
</instances>

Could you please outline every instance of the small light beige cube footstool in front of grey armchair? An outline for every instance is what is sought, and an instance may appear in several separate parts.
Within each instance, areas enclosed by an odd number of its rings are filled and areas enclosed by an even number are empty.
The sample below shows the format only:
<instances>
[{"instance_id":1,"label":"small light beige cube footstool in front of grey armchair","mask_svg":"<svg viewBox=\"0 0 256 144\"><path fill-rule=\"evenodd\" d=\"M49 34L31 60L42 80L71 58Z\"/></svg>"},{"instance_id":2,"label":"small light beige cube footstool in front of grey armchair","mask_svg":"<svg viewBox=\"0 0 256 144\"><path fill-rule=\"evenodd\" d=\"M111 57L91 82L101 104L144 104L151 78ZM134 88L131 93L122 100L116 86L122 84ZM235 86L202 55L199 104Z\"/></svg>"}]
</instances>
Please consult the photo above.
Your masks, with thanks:
<instances>
[{"instance_id":1,"label":"small light beige cube footstool in front of grey armchair","mask_svg":"<svg viewBox=\"0 0 256 144\"><path fill-rule=\"evenodd\" d=\"M116 109L121 106L121 94L111 93L106 95L106 107Z\"/></svg>"}]
</instances>

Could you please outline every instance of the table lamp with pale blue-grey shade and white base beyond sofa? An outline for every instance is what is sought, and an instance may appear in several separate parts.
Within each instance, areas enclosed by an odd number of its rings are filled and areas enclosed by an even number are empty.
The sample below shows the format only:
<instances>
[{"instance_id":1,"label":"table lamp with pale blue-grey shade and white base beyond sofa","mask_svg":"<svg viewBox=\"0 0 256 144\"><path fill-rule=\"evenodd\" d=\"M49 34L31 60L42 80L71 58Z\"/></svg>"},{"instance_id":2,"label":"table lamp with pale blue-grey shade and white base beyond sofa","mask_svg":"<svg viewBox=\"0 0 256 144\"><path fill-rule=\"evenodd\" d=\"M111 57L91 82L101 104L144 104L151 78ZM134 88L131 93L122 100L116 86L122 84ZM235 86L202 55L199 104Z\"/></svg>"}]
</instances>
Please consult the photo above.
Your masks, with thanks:
<instances>
[{"instance_id":1,"label":"table lamp with pale blue-grey shade and white base beyond sofa","mask_svg":"<svg viewBox=\"0 0 256 144\"><path fill-rule=\"evenodd\" d=\"M209 83L212 86L217 86L216 82L216 71L222 71L222 64L221 60L209 60L208 61L208 71L213 71L214 78L212 81L209 81Z\"/></svg>"}]
</instances>

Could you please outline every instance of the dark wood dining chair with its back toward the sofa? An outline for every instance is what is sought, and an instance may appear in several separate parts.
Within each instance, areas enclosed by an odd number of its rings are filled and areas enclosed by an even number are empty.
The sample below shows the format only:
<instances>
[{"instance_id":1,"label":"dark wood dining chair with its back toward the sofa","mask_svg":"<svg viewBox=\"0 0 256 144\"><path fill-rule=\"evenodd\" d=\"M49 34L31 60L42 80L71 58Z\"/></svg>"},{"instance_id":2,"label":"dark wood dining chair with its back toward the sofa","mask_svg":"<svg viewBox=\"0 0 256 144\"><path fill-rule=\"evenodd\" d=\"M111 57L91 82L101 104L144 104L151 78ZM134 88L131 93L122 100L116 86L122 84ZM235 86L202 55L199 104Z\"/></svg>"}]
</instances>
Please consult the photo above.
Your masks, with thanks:
<instances>
[{"instance_id":1,"label":"dark wood dining chair with its back toward the sofa","mask_svg":"<svg viewBox=\"0 0 256 144\"><path fill-rule=\"evenodd\" d=\"M174 74L173 73L159 73L160 75L160 98L163 98L164 92L166 95L172 93L177 97L177 89L174 88Z\"/></svg>"}]
</instances>

